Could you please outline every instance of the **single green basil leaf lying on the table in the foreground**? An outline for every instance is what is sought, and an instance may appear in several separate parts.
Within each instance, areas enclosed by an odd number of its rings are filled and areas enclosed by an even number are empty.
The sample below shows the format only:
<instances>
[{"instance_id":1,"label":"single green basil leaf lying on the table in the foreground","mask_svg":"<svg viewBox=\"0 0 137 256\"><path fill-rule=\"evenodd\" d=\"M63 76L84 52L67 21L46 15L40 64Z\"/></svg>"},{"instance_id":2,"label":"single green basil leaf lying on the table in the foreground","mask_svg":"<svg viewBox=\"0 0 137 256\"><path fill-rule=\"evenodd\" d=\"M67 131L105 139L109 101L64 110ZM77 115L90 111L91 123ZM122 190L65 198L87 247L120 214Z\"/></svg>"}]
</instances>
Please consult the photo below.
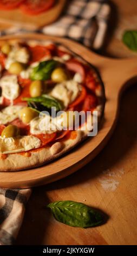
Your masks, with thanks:
<instances>
[{"instance_id":1,"label":"single green basil leaf lying on the table in the foreground","mask_svg":"<svg viewBox=\"0 0 137 256\"><path fill-rule=\"evenodd\" d=\"M47 206L55 219L71 227L95 227L103 222L101 214L89 206L73 201L57 201Z\"/></svg>"}]
</instances>

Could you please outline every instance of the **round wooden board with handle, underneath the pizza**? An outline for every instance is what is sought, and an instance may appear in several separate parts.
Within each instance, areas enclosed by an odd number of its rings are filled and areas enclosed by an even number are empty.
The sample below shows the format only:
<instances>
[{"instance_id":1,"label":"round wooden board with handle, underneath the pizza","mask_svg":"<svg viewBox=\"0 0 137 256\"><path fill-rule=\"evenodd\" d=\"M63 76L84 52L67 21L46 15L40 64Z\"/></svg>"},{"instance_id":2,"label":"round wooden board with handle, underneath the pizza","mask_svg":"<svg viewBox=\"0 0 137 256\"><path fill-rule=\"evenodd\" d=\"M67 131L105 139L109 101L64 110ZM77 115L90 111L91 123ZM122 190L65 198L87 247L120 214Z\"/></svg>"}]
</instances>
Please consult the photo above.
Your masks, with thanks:
<instances>
[{"instance_id":1,"label":"round wooden board with handle, underneath the pizza","mask_svg":"<svg viewBox=\"0 0 137 256\"><path fill-rule=\"evenodd\" d=\"M0 186L10 188L26 188L47 184L64 178L91 161L105 147L112 135L118 119L121 93L123 89L136 80L137 70L136 58L116 60L101 57L76 42L53 36L37 34L12 36L12 38L21 37L61 42L86 59L87 62L95 65L105 84L107 102L105 118L96 137L87 139L74 150L71 150L69 154L45 166L22 172L1 172ZM11 36L6 36L5 39L11 39Z\"/></svg>"}]
</instances>

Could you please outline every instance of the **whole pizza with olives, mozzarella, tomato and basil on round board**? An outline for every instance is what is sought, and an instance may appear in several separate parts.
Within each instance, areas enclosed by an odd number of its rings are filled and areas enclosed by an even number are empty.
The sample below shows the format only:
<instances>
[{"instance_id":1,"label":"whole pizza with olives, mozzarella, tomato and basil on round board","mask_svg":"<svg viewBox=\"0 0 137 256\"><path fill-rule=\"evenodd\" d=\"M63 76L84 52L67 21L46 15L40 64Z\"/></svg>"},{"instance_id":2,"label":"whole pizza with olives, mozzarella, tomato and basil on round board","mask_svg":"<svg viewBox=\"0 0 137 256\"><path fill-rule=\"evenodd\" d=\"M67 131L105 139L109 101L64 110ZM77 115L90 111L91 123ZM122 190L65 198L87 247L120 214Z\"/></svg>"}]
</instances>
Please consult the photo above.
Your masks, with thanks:
<instances>
[{"instance_id":1,"label":"whole pizza with olives, mozzarella, tomato and basil on round board","mask_svg":"<svg viewBox=\"0 0 137 256\"><path fill-rule=\"evenodd\" d=\"M1 172L61 157L87 138L94 111L99 124L105 107L94 66L52 41L1 42L0 89Z\"/></svg>"}]
</instances>

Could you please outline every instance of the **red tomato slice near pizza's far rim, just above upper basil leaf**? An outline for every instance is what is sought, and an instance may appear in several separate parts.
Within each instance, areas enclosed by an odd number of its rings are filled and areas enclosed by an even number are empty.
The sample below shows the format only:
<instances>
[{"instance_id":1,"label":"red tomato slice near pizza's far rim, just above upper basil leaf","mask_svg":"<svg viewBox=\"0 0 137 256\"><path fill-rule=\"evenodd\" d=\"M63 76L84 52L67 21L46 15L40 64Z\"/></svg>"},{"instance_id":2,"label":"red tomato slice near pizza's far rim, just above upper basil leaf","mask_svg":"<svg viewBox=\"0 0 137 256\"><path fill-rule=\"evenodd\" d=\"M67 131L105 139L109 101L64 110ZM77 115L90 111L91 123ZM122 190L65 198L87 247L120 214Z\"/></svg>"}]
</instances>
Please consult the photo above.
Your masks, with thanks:
<instances>
[{"instance_id":1,"label":"red tomato slice near pizza's far rim, just above upper basil leaf","mask_svg":"<svg viewBox=\"0 0 137 256\"><path fill-rule=\"evenodd\" d=\"M50 56L50 50L42 45L36 45L33 47L29 47L30 53L31 53L31 60L30 62L38 62L40 59L42 59L45 56Z\"/></svg>"}]
</instances>

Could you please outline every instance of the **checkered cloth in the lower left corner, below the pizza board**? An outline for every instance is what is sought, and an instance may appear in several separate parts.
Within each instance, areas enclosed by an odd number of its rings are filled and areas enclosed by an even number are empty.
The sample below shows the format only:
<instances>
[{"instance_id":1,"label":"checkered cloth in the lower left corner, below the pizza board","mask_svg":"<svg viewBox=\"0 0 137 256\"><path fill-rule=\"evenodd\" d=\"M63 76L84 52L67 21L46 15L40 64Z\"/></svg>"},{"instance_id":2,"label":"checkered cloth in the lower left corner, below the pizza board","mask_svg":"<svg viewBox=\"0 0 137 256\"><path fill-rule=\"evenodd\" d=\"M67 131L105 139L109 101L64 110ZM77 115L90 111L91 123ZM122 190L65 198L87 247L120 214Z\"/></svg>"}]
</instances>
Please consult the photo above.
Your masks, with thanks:
<instances>
[{"instance_id":1,"label":"checkered cloth in the lower left corner, below the pizza board","mask_svg":"<svg viewBox=\"0 0 137 256\"><path fill-rule=\"evenodd\" d=\"M21 227L31 190L0 188L0 245L12 245Z\"/></svg>"}]
</instances>

